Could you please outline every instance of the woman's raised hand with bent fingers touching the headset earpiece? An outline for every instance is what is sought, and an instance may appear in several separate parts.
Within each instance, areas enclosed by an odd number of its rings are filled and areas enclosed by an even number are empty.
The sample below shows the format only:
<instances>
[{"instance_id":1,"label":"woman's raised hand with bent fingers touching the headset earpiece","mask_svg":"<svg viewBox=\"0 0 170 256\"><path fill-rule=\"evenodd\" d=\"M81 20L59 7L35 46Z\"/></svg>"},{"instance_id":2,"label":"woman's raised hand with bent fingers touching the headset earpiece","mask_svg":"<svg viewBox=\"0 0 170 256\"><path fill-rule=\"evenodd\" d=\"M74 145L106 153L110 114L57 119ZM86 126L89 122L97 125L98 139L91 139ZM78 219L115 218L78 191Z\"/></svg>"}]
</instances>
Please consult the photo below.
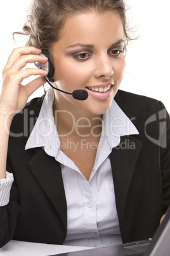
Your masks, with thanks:
<instances>
[{"instance_id":1,"label":"woman's raised hand with bent fingers touching the headset earpiece","mask_svg":"<svg viewBox=\"0 0 170 256\"><path fill-rule=\"evenodd\" d=\"M47 62L48 58L39 55L41 50L32 46L24 46L15 48L8 58L8 62L3 69L3 85L0 95L0 115L5 116L8 114L12 119L13 116L21 111L28 98L35 92L41 85L44 84L42 76L48 73L42 69L25 68L27 63L34 62ZM39 75L40 77L32 80L23 86L23 79L31 75Z\"/></svg>"}]
</instances>

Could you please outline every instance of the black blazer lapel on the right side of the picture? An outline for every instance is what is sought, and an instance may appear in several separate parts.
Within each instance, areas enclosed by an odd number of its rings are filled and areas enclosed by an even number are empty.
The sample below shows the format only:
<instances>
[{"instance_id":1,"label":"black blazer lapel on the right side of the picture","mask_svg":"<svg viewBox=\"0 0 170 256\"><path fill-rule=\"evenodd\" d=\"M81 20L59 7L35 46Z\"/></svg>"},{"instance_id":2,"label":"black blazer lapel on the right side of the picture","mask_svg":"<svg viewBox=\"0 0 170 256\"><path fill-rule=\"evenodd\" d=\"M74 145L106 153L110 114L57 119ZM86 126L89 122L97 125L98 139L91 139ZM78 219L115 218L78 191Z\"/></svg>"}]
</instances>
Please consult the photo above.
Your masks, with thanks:
<instances>
[{"instance_id":1,"label":"black blazer lapel on the right side of the picture","mask_svg":"<svg viewBox=\"0 0 170 256\"><path fill-rule=\"evenodd\" d=\"M119 217L124 217L134 168L141 151L142 142L133 136L123 136L119 146L110 153L114 179L115 201Z\"/></svg>"}]
</instances>

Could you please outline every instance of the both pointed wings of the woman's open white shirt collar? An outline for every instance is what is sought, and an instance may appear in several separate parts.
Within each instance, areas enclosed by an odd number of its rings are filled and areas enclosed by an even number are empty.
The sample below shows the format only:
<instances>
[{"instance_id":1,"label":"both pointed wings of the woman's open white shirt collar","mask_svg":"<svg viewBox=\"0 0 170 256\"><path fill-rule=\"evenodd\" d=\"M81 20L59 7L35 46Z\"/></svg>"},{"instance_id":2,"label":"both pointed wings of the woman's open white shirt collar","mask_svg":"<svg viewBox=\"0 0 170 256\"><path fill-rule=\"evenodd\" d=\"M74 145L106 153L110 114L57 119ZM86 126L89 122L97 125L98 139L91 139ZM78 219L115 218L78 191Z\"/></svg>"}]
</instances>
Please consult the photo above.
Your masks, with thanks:
<instances>
[{"instance_id":1,"label":"both pointed wings of the woman's open white shirt collar","mask_svg":"<svg viewBox=\"0 0 170 256\"><path fill-rule=\"evenodd\" d=\"M109 147L114 148L119 145L121 136L132 134L139 134L139 132L113 100L111 108L107 113L103 114L101 137L105 138L105 142L108 143ZM56 157L58 150L60 150L60 139L53 117L53 95L50 89L44 97L39 117L27 140L25 150L37 147L44 147L46 153L53 157Z\"/></svg>"}]
</instances>

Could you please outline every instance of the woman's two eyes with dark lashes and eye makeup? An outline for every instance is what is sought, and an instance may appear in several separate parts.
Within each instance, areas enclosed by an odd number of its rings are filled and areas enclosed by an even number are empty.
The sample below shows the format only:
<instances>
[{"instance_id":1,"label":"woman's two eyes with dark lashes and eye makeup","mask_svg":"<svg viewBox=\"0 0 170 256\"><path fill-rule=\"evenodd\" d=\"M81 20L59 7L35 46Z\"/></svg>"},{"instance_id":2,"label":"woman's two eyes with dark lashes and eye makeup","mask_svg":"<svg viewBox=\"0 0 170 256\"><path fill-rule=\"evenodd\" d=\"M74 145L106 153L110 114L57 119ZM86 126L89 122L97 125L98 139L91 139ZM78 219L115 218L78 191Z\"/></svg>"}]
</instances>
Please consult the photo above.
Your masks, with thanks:
<instances>
[{"instance_id":1,"label":"woman's two eyes with dark lashes and eye makeup","mask_svg":"<svg viewBox=\"0 0 170 256\"><path fill-rule=\"evenodd\" d=\"M114 48L108 51L108 55L110 55L111 57L121 57L121 55L124 54L124 48ZM74 53L73 57L77 60L88 60L91 57L93 57L93 53L89 53L89 52L79 52L79 53Z\"/></svg>"}]
</instances>

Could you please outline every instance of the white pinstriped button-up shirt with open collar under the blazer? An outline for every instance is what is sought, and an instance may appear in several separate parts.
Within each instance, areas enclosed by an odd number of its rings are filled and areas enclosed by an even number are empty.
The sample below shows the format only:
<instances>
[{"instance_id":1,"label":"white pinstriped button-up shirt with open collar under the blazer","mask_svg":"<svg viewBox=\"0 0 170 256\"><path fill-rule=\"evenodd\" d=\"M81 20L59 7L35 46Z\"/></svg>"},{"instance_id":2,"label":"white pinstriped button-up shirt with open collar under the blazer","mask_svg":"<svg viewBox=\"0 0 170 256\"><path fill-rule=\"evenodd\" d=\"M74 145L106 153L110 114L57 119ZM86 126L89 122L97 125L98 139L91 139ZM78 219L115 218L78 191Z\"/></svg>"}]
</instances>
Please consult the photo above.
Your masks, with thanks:
<instances>
[{"instance_id":1,"label":"white pinstriped button-up shirt with open collar under the blazer","mask_svg":"<svg viewBox=\"0 0 170 256\"><path fill-rule=\"evenodd\" d=\"M115 206L114 182L110 152L118 146L121 136L138 134L136 127L113 101L110 110L103 114L103 127L89 180L62 152L53 117L51 90L46 94L36 125L30 134L25 150L38 146L60 162L65 196L67 199L67 237L64 245L108 246L122 243ZM86 138L81 146L86 145ZM90 145L89 145L90 146ZM88 159L87 159L88 160Z\"/></svg>"}]
</instances>

